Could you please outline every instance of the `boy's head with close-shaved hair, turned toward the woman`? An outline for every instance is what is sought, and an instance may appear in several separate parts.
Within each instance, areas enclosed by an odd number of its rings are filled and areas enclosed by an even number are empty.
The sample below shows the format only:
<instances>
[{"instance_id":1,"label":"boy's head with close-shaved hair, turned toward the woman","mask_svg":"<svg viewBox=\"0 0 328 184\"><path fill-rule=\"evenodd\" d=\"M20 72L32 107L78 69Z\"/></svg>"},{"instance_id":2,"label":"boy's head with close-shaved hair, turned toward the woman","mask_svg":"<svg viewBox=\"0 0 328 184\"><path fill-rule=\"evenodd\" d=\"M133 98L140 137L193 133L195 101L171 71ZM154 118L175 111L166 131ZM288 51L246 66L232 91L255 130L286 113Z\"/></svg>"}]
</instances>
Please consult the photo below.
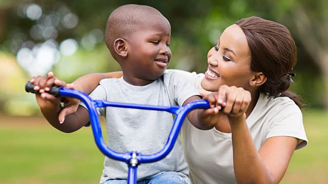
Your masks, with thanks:
<instances>
[{"instance_id":1,"label":"boy's head with close-shaved hair, turned toward the woman","mask_svg":"<svg viewBox=\"0 0 328 184\"><path fill-rule=\"evenodd\" d=\"M170 39L170 22L149 6L120 6L107 20L106 45L128 77L159 78L171 59Z\"/></svg>"}]
</instances>

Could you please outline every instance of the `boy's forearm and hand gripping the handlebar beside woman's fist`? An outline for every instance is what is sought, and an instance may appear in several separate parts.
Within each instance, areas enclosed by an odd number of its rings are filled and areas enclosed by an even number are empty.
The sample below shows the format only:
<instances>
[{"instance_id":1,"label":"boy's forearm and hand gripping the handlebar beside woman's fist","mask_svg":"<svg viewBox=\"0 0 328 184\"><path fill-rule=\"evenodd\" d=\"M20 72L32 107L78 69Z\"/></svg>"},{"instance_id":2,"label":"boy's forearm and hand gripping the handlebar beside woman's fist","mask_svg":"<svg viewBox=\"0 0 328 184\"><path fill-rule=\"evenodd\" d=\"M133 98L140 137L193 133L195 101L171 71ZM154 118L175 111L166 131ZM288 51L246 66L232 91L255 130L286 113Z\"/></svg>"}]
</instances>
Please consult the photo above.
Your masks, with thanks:
<instances>
[{"instance_id":1,"label":"boy's forearm and hand gripping the handlebar beside woman's fist","mask_svg":"<svg viewBox=\"0 0 328 184\"><path fill-rule=\"evenodd\" d=\"M188 98L183 105L189 102L201 100L199 96L192 96ZM201 130L212 129L219 120L221 115L220 106L216 106L216 100L214 98L207 99L210 102L210 108L208 109L195 109L188 113L187 117L191 124Z\"/></svg>"}]
</instances>

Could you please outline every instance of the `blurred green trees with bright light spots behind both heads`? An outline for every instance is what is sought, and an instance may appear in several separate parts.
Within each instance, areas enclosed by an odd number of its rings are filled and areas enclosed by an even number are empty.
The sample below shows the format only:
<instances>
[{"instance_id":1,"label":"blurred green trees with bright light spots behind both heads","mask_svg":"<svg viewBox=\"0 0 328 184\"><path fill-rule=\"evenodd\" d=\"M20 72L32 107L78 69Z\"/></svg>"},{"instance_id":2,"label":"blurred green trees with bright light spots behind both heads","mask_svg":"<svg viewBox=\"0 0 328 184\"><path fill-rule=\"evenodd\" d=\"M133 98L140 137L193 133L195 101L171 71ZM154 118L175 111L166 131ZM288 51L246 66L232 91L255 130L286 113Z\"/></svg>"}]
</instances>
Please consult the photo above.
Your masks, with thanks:
<instances>
[{"instance_id":1,"label":"blurred green trees with bright light spots behind both heads","mask_svg":"<svg viewBox=\"0 0 328 184\"><path fill-rule=\"evenodd\" d=\"M227 26L242 17L260 16L284 24L299 46L299 62L294 68L297 85L293 90L312 106L323 105L325 93L320 90L317 65L328 79L328 69L323 69L327 67L323 62L327 57L323 33L328 29L321 24L328 17L324 0L316 4L308 0L0 0L0 51L16 55L27 71L26 79L53 70L70 82L91 72L119 70L106 48L103 32L110 12L131 3L155 7L169 19L173 53L170 68L187 71L205 71L208 50ZM309 85L314 92L305 90Z\"/></svg>"}]
</instances>

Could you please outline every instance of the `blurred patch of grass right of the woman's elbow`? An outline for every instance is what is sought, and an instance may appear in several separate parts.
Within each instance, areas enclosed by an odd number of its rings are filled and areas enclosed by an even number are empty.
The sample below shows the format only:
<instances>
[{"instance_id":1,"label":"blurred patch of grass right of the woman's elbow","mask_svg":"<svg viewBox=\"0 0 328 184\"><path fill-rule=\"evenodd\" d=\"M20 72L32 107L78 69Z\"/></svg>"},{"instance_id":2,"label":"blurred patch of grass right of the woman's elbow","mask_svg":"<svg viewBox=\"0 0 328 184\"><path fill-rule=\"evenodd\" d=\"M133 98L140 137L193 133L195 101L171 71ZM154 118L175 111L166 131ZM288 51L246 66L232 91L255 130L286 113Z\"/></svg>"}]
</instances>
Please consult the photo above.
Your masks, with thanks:
<instances>
[{"instance_id":1,"label":"blurred patch of grass right of the woman's elbow","mask_svg":"<svg viewBox=\"0 0 328 184\"><path fill-rule=\"evenodd\" d=\"M328 183L328 112L306 110L303 122L309 145L294 152L281 183Z\"/></svg>"}]
</instances>

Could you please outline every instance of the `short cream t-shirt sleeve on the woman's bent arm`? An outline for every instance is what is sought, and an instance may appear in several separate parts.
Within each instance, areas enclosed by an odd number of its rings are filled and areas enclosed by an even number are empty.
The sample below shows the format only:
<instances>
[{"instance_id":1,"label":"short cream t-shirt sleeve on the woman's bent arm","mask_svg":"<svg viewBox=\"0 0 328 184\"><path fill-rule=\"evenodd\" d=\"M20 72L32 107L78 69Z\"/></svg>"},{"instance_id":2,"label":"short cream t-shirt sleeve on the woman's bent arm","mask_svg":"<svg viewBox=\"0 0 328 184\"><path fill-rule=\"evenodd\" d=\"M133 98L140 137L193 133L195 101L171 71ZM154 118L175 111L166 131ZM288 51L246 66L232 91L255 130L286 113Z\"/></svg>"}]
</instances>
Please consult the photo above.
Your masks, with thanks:
<instances>
[{"instance_id":1,"label":"short cream t-shirt sleeve on the woman's bent arm","mask_svg":"<svg viewBox=\"0 0 328 184\"><path fill-rule=\"evenodd\" d=\"M301 110L296 104L280 109L268 127L267 139L273 136L291 136L298 139L296 149L308 145L308 139L303 126Z\"/></svg>"}]
</instances>

